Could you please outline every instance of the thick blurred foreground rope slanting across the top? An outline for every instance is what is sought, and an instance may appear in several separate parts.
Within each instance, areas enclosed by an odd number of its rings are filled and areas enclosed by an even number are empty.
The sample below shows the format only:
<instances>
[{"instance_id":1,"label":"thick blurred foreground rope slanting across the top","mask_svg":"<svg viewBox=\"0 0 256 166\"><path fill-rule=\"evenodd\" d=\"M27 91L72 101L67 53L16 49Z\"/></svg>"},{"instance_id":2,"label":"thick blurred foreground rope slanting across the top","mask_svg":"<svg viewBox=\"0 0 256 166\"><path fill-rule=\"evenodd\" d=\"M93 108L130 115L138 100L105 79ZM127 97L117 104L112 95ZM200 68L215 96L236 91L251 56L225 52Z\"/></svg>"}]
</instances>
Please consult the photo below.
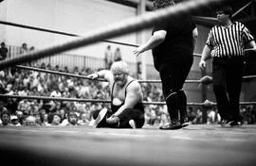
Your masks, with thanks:
<instances>
[{"instance_id":1,"label":"thick blurred foreground rope slanting across the top","mask_svg":"<svg viewBox=\"0 0 256 166\"><path fill-rule=\"evenodd\" d=\"M142 30L151 27L155 24L160 24L167 19L174 17L177 13L187 13L198 8L202 8L206 5L213 5L224 1L231 0L193 0L179 3L176 6L170 8L159 9L155 12L149 12L137 16L132 19L122 21L114 25L107 25L86 33L83 37L79 37L75 40L70 40L68 42L55 44L51 47L41 49L34 52L28 52L26 54L20 55L16 58L10 58L0 62L0 70L5 67L13 66L16 64L29 62L32 60L37 60L39 58L46 58L54 56L58 53L68 51L71 49L79 48L85 45L89 45L95 42L101 42L104 39L110 39L114 37L119 37L131 32Z\"/></svg>"}]
</instances>

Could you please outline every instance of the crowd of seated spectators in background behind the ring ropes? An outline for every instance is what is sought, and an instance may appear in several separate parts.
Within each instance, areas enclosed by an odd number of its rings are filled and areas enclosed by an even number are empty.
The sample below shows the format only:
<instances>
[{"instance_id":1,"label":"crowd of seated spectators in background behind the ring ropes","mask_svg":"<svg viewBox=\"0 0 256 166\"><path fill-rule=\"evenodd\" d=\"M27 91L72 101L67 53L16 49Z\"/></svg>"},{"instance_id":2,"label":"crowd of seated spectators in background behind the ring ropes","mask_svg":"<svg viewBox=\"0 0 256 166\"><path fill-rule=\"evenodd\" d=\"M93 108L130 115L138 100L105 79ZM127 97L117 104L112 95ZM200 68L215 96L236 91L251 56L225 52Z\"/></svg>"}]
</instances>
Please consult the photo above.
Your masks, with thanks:
<instances>
[{"instance_id":1,"label":"crowd of seated spectators in background behind the ring ropes","mask_svg":"<svg viewBox=\"0 0 256 166\"><path fill-rule=\"evenodd\" d=\"M3 42L2 42L3 43ZM1 43L0 58L8 50ZM31 47L29 50L34 49ZM21 53L27 51L24 43ZM51 64L29 63L28 66L54 70L75 75L89 75L95 71L90 68L67 66L51 66ZM106 63L105 68L109 68ZM101 70L101 69L99 69ZM161 90L155 84L142 83L144 99L148 102L164 101ZM110 91L106 82L52 75L35 71L7 68L0 72L0 93L10 95L47 96L58 98L110 99ZM1 98L0 125L89 125L91 112L101 108L109 108L109 104L70 102L57 100L38 100L20 98ZM189 120L192 124L218 124L220 122L217 108L188 107ZM241 115L245 124L255 124L256 107L253 105L241 107ZM170 122L165 105L145 106L145 125L166 125Z\"/></svg>"}]
</instances>

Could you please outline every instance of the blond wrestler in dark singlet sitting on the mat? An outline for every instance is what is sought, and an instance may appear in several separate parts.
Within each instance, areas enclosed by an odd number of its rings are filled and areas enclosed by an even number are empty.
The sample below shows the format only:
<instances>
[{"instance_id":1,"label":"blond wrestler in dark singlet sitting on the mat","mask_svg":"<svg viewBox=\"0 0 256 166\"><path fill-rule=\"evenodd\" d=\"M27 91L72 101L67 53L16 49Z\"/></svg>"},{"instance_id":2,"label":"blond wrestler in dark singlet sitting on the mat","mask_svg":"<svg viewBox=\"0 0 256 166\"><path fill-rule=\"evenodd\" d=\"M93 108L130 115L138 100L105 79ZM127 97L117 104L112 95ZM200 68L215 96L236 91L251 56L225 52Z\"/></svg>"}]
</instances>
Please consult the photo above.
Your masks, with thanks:
<instances>
[{"instance_id":1,"label":"blond wrestler in dark singlet sitting on the mat","mask_svg":"<svg viewBox=\"0 0 256 166\"><path fill-rule=\"evenodd\" d=\"M109 70L101 70L90 78L104 78L111 91L111 110L103 108L93 112L96 127L141 128L144 125L142 90L136 79L131 77L128 65L114 62Z\"/></svg>"}]
</instances>

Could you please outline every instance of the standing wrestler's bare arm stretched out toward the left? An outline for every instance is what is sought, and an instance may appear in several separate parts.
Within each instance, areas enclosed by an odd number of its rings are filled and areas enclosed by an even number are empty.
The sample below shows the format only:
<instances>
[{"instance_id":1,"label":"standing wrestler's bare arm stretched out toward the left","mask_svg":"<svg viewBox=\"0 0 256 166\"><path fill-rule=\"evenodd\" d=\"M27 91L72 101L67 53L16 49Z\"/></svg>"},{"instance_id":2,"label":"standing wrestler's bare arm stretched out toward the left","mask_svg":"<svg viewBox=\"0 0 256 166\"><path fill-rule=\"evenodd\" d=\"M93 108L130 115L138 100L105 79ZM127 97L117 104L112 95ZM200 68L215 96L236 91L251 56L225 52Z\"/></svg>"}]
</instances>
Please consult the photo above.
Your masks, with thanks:
<instances>
[{"instance_id":1,"label":"standing wrestler's bare arm stretched out toward the left","mask_svg":"<svg viewBox=\"0 0 256 166\"><path fill-rule=\"evenodd\" d=\"M155 48L155 46L159 45L161 42L164 42L166 37L167 31L166 30L158 30L155 31L153 36L150 38L148 42L145 42L144 44L141 44L135 49L133 52L136 56L139 54Z\"/></svg>"}]
</instances>

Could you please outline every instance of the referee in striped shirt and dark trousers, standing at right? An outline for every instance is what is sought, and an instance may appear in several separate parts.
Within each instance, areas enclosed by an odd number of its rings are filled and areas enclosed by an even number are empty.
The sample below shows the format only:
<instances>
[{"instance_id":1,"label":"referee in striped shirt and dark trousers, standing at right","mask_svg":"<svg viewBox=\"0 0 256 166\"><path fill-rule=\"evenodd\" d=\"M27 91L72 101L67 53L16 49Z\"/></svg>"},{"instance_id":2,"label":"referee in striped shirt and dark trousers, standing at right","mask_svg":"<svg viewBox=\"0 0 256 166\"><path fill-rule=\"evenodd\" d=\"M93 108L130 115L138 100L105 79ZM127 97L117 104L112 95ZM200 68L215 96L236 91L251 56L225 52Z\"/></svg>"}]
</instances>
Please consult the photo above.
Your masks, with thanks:
<instances>
[{"instance_id":1,"label":"referee in striped shirt and dark trousers, standing at right","mask_svg":"<svg viewBox=\"0 0 256 166\"><path fill-rule=\"evenodd\" d=\"M199 67L206 68L212 60L212 84L222 126L242 125L239 98L243 82L244 49L256 48L247 27L232 22L232 8L217 11L218 25L211 28Z\"/></svg>"}]
</instances>

